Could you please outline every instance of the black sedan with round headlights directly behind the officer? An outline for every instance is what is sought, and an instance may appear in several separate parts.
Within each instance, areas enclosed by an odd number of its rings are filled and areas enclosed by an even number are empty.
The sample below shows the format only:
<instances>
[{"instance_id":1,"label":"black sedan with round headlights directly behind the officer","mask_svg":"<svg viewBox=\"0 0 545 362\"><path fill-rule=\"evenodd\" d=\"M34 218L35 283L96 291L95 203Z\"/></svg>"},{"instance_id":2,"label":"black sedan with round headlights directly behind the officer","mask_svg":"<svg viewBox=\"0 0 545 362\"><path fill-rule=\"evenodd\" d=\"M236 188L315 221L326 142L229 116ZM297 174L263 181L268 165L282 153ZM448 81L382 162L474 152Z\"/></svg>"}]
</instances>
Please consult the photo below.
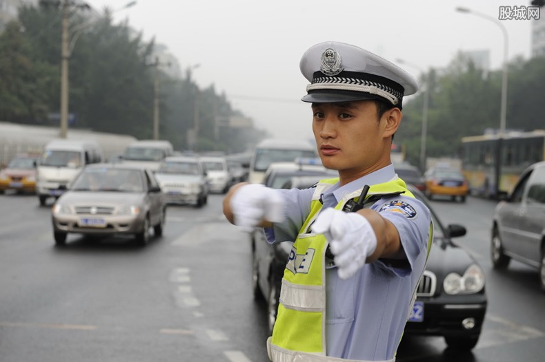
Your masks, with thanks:
<instances>
[{"instance_id":1,"label":"black sedan with round headlights directly behind the officer","mask_svg":"<svg viewBox=\"0 0 545 362\"><path fill-rule=\"evenodd\" d=\"M409 189L430 207L422 193L412 186ZM475 259L450 239L465 235L466 228L456 224L444 227L431 207L430 210L433 246L405 334L442 336L450 348L470 350L477 344L486 313L484 273ZM266 300L270 332L291 245L268 244L262 230L252 238L254 297Z\"/></svg>"}]
</instances>

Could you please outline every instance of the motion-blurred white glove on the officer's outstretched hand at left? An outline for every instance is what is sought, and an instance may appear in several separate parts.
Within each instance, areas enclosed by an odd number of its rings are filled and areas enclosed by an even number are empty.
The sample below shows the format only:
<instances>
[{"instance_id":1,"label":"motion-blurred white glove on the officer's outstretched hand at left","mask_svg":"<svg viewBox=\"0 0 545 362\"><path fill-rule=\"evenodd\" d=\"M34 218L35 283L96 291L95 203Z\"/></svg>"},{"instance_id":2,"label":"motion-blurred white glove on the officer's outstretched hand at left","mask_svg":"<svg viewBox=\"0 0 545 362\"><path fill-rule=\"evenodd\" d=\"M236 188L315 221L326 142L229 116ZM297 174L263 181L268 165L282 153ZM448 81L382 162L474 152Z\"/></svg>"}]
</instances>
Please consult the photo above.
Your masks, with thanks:
<instances>
[{"instance_id":1,"label":"motion-blurred white glove on the officer's outstretched hand at left","mask_svg":"<svg viewBox=\"0 0 545 362\"><path fill-rule=\"evenodd\" d=\"M284 199L276 189L262 184L246 184L240 187L229 202L235 225L250 233L261 220L284 220Z\"/></svg>"}]
</instances>

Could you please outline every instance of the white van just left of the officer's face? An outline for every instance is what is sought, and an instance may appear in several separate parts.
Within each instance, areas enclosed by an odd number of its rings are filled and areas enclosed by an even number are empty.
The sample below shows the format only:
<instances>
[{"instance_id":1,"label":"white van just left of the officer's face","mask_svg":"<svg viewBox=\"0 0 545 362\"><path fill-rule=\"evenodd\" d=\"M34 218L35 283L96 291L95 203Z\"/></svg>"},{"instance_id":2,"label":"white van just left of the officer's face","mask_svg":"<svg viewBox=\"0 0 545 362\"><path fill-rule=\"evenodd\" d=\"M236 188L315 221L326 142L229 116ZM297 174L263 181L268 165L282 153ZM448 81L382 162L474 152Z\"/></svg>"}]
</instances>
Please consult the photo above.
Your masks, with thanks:
<instances>
[{"instance_id":1,"label":"white van just left of the officer's face","mask_svg":"<svg viewBox=\"0 0 545 362\"><path fill-rule=\"evenodd\" d=\"M248 182L262 184L273 162L293 162L296 158L316 158L316 146L304 140L268 138L259 142L250 159Z\"/></svg>"}]
</instances>

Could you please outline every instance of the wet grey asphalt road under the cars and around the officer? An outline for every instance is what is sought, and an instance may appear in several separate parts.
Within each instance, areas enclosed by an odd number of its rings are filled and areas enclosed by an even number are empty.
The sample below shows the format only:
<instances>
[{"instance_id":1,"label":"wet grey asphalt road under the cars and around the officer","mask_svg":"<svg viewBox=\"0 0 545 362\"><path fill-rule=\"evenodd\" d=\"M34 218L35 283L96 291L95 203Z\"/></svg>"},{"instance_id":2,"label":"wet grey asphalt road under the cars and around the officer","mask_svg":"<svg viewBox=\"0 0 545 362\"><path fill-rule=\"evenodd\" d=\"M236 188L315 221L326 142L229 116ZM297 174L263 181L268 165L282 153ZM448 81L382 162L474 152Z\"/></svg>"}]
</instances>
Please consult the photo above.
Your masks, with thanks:
<instances>
[{"instance_id":1,"label":"wet grey asphalt road under the cars and around the officer","mask_svg":"<svg viewBox=\"0 0 545 362\"><path fill-rule=\"evenodd\" d=\"M0 195L0 361L268 361L265 307L252 300L248 235L221 214L169 206L164 236L68 237L54 247L50 208L34 195ZM492 270L495 203L433 201L455 239L486 271L488 312L472 353L441 337L406 337L397 361L542 362L545 295L537 271Z\"/></svg>"}]
</instances>

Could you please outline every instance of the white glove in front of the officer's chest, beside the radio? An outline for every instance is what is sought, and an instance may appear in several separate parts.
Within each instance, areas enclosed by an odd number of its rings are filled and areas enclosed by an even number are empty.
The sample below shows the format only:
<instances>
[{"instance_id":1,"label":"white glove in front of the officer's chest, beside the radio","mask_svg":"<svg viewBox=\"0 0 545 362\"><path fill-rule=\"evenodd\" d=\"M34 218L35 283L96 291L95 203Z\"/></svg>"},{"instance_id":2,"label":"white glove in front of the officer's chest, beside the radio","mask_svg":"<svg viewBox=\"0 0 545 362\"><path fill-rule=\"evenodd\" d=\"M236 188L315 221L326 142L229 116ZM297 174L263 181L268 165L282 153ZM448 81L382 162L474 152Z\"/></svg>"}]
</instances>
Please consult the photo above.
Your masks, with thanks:
<instances>
[{"instance_id":1,"label":"white glove in front of the officer's chest, beside the radio","mask_svg":"<svg viewBox=\"0 0 545 362\"><path fill-rule=\"evenodd\" d=\"M312 228L315 233L326 235L341 279L355 275L377 248L373 227L359 213L329 208L318 215Z\"/></svg>"}]
</instances>

